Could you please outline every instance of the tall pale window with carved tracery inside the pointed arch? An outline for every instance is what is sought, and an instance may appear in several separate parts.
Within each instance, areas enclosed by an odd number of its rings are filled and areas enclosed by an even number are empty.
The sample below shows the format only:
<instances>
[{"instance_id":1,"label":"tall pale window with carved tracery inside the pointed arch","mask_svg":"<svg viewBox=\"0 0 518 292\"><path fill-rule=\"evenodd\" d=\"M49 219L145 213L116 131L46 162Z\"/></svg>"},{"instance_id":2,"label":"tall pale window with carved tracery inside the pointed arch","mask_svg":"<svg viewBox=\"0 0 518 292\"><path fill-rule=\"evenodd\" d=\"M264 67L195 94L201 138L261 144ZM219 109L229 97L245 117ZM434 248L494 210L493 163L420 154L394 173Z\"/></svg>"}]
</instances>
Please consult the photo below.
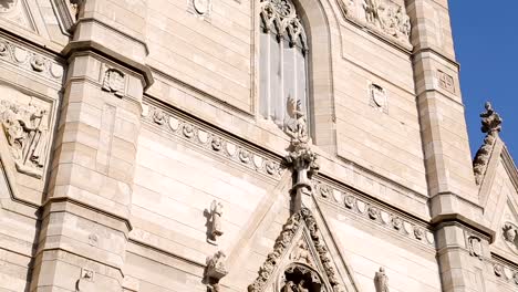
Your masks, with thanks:
<instances>
[{"instance_id":1,"label":"tall pale window with carved tracery inside the pointed arch","mask_svg":"<svg viewBox=\"0 0 518 292\"><path fill-rule=\"evenodd\" d=\"M259 111L284 128L291 121L290 104L300 102L310 117L307 35L290 0L261 0L260 25Z\"/></svg>"}]
</instances>

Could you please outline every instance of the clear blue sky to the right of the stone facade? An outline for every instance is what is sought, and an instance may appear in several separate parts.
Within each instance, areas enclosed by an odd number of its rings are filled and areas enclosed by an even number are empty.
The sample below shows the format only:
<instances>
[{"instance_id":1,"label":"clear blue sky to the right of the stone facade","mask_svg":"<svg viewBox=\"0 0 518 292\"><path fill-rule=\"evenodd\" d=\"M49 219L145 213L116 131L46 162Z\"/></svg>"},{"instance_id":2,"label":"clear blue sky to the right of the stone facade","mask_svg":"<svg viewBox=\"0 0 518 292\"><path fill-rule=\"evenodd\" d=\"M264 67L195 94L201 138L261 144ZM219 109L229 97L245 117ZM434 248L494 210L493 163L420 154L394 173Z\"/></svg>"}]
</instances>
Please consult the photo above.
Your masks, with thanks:
<instances>
[{"instance_id":1,"label":"clear blue sky to the right of the stone facade","mask_svg":"<svg viewBox=\"0 0 518 292\"><path fill-rule=\"evenodd\" d=\"M472 153L483 143L478 115L489 100L518 164L518 1L450 0L449 11Z\"/></svg>"}]
</instances>

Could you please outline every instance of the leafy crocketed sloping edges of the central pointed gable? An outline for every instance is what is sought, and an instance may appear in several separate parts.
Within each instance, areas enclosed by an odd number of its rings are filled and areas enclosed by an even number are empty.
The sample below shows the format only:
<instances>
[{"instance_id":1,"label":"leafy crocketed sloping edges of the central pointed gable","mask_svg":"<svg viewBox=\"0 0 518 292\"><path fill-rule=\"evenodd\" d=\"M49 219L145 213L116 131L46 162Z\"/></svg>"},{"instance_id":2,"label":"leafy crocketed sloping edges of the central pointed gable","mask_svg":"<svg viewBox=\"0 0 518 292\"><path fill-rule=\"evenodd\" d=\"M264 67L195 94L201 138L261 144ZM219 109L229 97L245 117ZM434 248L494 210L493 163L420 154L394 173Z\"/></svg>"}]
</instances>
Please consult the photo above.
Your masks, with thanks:
<instances>
[{"instance_id":1,"label":"leafy crocketed sloping edges of the central pointed gable","mask_svg":"<svg viewBox=\"0 0 518 292\"><path fill-rule=\"evenodd\" d=\"M286 222L282 228L280 236L277 238L273 246L273 251L268 254L267 260L259 269L259 275L252 284L248 286L249 292L261 292L265 290L270 278L274 271L279 268L283 254L291 246L297 231L305 223L310 232L311 241L317 250L318 259L322 263L325 272L325 277L329 279L331 284L331 291L341 292L342 286L336 277L336 272L333 268L332 261L329 257L328 248L321 240L319 227L314 220L313 215L307 208L302 208L298 212L294 212ZM289 281L289 279L287 279ZM288 285L290 286L290 285ZM286 284L284 284L286 288ZM292 285L290 286L292 288ZM289 291L289 290L288 290ZM297 291L297 290L294 290Z\"/></svg>"}]
</instances>

